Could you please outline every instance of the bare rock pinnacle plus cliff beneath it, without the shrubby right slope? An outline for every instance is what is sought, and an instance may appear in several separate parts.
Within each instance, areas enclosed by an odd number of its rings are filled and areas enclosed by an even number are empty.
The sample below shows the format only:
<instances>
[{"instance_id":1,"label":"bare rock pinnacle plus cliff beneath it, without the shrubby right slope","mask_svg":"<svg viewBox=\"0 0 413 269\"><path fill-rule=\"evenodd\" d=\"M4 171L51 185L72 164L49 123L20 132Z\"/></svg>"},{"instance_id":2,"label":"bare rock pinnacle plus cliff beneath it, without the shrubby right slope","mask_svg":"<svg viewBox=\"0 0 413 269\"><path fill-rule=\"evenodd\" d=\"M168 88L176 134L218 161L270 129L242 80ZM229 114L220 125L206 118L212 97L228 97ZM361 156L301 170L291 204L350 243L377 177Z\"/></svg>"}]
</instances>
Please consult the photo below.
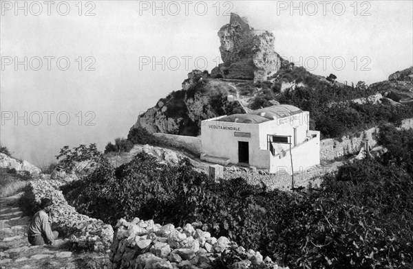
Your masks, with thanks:
<instances>
[{"instance_id":1,"label":"bare rock pinnacle plus cliff beneath it, without the shrubby right slope","mask_svg":"<svg viewBox=\"0 0 413 269\"><path fill-rule=\"evenodd\" d=\"M253 97L267 81L288 62L274 51L274 36L268 31L253 30L245 18L231 14L231 21L218 32L224 63L211 71L194 70L156 106L138 116L132 128L142 126L149 132L199 134L204 119L220 115L246 113Z\"/></svg>"}]
</instances>

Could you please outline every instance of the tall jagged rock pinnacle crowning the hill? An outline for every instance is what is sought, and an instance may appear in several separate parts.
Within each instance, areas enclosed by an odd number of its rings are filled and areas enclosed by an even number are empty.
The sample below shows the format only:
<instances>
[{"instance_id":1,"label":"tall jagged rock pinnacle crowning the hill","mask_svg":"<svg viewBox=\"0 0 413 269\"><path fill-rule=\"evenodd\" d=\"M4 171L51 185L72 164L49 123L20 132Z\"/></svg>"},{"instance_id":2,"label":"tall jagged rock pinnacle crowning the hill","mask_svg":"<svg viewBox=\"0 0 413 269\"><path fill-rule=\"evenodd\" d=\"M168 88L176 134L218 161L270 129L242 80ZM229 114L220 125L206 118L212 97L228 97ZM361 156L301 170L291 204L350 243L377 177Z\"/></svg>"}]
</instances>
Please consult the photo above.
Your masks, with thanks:
<instances>
[{"instance_id":1,"label":"tall jagged rock pinnacle crowning the hill","mask_svg":"<svg viewBox=\"0 0 413 269\"><path fill-rule=\"evenodd\" d=\"M211 71L213 78L263 81L282 65L274 51L274 35L254 30L246 18L235 13L231 13L230 23L221 27L218 36L223 63Z\"/></svg>"}]
</instances>

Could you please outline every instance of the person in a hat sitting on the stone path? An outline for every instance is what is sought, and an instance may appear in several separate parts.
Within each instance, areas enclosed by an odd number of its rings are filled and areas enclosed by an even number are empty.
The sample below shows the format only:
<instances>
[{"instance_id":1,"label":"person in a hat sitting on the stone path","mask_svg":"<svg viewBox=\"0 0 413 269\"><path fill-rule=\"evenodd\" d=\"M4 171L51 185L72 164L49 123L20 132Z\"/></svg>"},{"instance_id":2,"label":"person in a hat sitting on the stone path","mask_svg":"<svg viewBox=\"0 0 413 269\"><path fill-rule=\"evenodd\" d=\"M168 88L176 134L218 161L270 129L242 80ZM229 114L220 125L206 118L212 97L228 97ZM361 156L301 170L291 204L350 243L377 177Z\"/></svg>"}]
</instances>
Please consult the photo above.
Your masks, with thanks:
<instances>
[{"instance_id":1,"label":"person in a hat sitting on the stone path","mask_svg":"<svg viewBox=\"0 0 413 269\"><path fill-rule=\"evenodd\" d=\"M33 246L40 246L43 244L53 244L54 239L59 236L59 233L52 231L49 223L50 209L52 207L52 200L48 198L41 199L40 208L34 214L29 224L28 239Z\"/></svg>"}]
</instances>

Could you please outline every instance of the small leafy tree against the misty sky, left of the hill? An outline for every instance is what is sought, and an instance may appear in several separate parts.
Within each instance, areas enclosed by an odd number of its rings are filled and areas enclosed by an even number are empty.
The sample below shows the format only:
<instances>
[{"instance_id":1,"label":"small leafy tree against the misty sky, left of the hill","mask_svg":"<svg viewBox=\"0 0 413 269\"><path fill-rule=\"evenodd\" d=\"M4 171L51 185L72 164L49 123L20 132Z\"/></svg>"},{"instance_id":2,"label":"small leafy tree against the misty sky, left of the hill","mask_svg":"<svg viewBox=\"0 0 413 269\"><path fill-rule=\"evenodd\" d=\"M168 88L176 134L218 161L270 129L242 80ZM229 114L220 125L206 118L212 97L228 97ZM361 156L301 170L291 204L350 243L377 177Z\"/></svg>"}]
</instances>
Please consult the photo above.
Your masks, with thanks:
<instances>
[{"instance_id":1,"label":"small leafy tree against the misty sky, left of the hill","mask_svg":"<svg viewBox=\"0 0 413 269\"><path fill-rule=\"evenodd\" d=\"M98 151L96 144L79 145L77 148L69 149L68 145L61 148L60 154L56 156L59 165L66 173L74 172L79 179L84 179L91 174L101 162L103 154Z\"/></svg>"}]
</instances>

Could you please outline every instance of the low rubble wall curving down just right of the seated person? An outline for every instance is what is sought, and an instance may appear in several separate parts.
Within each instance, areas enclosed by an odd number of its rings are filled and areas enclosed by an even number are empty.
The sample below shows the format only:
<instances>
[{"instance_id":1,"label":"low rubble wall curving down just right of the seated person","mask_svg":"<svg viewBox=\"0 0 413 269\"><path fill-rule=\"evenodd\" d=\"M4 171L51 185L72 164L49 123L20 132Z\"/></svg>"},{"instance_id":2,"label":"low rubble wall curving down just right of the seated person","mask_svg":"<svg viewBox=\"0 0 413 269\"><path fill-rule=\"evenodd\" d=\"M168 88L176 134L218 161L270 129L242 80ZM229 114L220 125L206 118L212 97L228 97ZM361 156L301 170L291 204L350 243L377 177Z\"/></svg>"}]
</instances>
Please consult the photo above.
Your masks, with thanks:
<instances>
[{"instance_id":1,"label":"low rubble wall curving down just right of the seated person","mask_svg":"<svg viewBox=\"0 0 413 269\"><path fill-rule=\"evenodd\" d=\"M30 190L35 202L40 203L41 198L50 198L53 201L50 212L50 222L56 224L70 242L85 250L105 252L109 250L114 236L114 230L102 220L89 218L82 215L67 204L59 187L65 183L59 180L32 180Z\"/></svg>"}]
</instances>

